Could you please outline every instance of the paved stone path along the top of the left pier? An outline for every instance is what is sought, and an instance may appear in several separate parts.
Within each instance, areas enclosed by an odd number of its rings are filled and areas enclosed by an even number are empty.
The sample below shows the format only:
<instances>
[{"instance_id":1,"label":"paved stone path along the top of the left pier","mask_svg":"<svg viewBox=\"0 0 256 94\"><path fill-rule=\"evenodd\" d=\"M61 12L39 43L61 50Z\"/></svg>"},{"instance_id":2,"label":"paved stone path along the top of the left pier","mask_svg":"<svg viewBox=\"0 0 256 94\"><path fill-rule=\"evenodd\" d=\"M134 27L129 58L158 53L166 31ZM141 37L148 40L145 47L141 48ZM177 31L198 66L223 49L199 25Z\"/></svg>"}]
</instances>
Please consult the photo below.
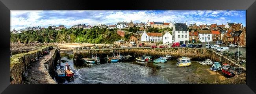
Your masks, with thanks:
<instances>
[{"instance_id":1,"label":"paved stone path along the top of the left pier","mask_svg":"<svg viewBox=\"0 0 256 94\"><path fill-rule=\"evenodd\" d=\"M28 69L26 70L26 72L28 72L28 77L26 77L26 80L24 81L25 84L57 84L44 68L44 63L50 60L54 55L55 49L50 50L50 52L51 54L43 56L28 66Z\"/></svg>"}]
</instances>

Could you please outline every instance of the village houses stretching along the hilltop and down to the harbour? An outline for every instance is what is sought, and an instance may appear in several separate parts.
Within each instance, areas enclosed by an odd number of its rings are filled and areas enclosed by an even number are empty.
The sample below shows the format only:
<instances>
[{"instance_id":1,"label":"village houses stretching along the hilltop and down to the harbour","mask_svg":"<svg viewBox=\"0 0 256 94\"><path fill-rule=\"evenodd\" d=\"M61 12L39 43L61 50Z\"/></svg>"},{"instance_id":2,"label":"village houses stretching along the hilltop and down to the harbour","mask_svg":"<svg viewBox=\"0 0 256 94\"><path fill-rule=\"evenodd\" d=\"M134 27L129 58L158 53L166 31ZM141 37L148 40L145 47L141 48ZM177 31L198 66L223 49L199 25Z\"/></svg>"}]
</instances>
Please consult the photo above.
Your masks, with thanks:
<instances>
[{"instance_id":1,"label":"village houses stretching along the hilltop and down to the harbour","mask_svg":"<svg viewBox=\"0 0 256 94\"><path fill-rule=\"evenodd\" d=\"M49 26L50 29L56 31L61 29L68 29L64 25ZM49 29L45 27L26 27L16 31L13 29L12 33L22 33L23 31L41 31ZM125 37L126 34L132 34L129 40L119 40L113 42L116 45L131 46L130 42L135 42L137 47L140 43L156 45L157 44L172 44L179 42L180 44L200 43L200 42L212 42L221 40L224 44L239 44L241 47L246 46L246 27L243 27L242 23L230 23L217 25L215 24L187 24L187 22L148 22L134 23L130 22L117 22L115 25L100 24L96 26L76 24L70 27L70 29L92 29L93 27L99 27L100 29L117 29L117 34L121 37ZM137 28L137 31L129 32L128 29ZM149 29L165 29L161 33L152 33ZM135 30L135 29L134 29ZM148 32L146 32L148 31Z\"/></svg>"}]
</instances>

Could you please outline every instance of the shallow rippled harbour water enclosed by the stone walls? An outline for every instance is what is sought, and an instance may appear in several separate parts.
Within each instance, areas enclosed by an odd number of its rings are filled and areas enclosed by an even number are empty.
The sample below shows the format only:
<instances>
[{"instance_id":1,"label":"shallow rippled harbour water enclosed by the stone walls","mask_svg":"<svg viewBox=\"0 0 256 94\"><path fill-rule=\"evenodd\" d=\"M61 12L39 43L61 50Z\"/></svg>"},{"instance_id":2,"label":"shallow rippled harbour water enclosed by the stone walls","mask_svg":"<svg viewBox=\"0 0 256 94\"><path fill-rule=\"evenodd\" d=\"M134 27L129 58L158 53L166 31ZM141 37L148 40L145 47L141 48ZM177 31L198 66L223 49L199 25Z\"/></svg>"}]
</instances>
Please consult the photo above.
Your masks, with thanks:
<instances>
[{"instance_id":1,"label":"shallow rippled harbour water enclosed by the stone walls","mask_svg":"<svg viewBox=\"0 0 256 94\"><path fill-rule=\"evenodd\" d=\"M67 60L75 74L74 80L58 80L59 84L210 84L226 79L221 71L210 71L211 66L198 61L189 67L176 67L176 60L157 64L130 60L85 67L76 65L69 52L61 52L61 60Z\"/></svg>"}]
</instances>

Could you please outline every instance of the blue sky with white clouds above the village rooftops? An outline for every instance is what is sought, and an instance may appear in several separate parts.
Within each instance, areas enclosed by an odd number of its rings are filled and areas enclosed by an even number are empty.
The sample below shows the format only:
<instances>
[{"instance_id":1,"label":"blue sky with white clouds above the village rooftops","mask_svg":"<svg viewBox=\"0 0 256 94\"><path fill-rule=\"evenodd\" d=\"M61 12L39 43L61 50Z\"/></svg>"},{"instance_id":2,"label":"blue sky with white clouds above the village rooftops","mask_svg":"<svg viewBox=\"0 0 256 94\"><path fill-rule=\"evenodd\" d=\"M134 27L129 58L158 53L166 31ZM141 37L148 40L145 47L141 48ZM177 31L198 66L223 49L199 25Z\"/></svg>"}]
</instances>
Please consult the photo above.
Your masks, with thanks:
<instances>
[{"instance_id":1,"label":"blue sky with white clouds above the village rooftops","mask_svg":"<svg viewBox=\"0 0 256 94\"><path fill-rule=\"evenodd\" d=\"M117 22L177 22L187 24L242 23L246 26L245 10L11 10L10 30L25 27L48 27L75 24L115 25Z\"/></svg>"}]
</instances>

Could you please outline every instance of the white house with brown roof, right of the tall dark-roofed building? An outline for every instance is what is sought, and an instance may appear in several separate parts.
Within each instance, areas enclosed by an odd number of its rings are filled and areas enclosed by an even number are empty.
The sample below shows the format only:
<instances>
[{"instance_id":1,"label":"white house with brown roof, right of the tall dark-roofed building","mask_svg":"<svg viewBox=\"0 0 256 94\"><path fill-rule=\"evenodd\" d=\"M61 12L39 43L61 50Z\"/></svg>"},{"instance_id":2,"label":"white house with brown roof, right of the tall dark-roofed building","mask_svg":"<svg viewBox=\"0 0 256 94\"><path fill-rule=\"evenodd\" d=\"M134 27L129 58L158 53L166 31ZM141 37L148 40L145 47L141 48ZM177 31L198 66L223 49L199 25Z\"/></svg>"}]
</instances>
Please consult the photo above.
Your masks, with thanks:
<instances>
[{"instance_id":1,"label":"white house with brown roof, right of the tall dark-roofed building","mask_svg":"<svg viewBox=\"0 0 256 94\"><path fill-rule=\"evenodd\" d=\"M198 40L201 42L212 42L212 33L210 30L199 30Z\"/></svg>"}]
</instances>

